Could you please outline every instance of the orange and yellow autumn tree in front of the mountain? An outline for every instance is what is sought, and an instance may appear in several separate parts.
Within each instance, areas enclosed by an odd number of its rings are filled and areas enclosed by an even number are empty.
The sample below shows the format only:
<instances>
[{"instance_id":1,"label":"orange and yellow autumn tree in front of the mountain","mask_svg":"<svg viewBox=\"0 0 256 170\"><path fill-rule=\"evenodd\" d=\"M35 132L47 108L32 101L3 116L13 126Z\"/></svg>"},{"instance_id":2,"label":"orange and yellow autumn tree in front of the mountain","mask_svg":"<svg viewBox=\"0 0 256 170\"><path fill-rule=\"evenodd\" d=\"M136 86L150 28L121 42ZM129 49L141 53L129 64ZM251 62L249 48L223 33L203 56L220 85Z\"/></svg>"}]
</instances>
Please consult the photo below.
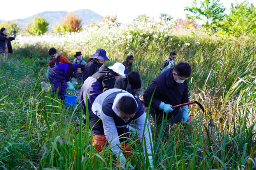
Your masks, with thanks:
<instances>
[{"instance_id":1,"label":"orange and yellow autumn tree in front of the mountain","mask_svg":"<svg viewBox=\"0 0 256 170\"><path fill-rule=\"evenodd\" d=\"M82 30L82 18L78 15L70 12L66 17L63 16L61 23L53 26L53 32L78 32Z\"/></svg>"}]
</instances>

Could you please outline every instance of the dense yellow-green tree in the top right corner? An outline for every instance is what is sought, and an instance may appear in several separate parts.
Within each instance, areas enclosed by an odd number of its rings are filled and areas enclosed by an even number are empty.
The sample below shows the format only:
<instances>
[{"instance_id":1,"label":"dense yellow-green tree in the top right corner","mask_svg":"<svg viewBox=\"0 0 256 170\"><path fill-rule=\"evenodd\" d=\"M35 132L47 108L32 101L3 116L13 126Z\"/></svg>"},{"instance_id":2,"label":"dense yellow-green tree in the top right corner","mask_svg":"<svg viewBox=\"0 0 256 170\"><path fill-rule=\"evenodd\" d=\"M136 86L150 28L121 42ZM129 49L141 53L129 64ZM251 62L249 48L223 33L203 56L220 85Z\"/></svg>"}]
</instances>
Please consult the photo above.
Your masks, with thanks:
<instances>
[{"instance_id":1,"label":"dense yellow-green tree in the top right corner","mask_svg":"<svg viewBox=\"0 0 256 170\"><path fill-rule=\"evenodd\" d=\"M232 3L230 14L224 20L223 30L235 36L255 33L256 8L254 5L247 1L236 5Z\"/></svg>"}]
</instances>

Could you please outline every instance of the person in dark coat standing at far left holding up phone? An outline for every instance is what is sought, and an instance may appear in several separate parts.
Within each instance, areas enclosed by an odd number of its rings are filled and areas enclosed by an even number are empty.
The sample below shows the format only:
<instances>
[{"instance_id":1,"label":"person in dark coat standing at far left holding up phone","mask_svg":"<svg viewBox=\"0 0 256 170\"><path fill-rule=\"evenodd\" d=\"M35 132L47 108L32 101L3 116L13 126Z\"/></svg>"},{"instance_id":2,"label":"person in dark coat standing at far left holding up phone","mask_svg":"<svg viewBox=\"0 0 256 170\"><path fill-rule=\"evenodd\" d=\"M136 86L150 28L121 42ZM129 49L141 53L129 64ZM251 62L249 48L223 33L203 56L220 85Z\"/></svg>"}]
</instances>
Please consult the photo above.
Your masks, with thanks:
<instances>
[{"instance_id":1,"label":"person in dark coat standing at far left holding up phone","mask_svg":"<svg viewBox=\"0 0 256 170\"><path fill-rule=\"evenodd\" d=\"M12 37L12 33L14 37ZM1 28L0 30L0 54L1 56L5 56L7 58L8 53L12 53L12 44L11 41L15 40L16 38L16 31L11 31L9 35L7 35L6 28Z\"/></svg>"}]
</instances>

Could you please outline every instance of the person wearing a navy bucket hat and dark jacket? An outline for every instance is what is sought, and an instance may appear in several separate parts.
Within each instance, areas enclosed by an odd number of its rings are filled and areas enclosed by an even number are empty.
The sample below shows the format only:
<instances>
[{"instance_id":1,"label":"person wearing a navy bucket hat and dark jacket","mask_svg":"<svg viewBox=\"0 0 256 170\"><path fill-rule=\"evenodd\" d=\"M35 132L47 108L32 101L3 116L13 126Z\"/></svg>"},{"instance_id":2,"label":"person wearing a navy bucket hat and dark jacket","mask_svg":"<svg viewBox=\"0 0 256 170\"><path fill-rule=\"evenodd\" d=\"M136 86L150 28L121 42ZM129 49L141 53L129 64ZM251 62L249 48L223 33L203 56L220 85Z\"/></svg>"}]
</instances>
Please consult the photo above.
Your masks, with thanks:
<instances>
[{"instance_id":1,"label":"person wearing a navy bucket hat and dark jacket","mask_svg":"<svg viewBox=\"0 0 256 170\"><path fill-rule=\"evenodd\" d=\"M99 71L100 67L103 65L102 62L110 60L106 53L107 52L103 49L97 49L95 54L91 55L93 60L85 66L85 70L82 75L83 83L89 76L92 76L94 73Z\"/></svg>"}]
</instances>

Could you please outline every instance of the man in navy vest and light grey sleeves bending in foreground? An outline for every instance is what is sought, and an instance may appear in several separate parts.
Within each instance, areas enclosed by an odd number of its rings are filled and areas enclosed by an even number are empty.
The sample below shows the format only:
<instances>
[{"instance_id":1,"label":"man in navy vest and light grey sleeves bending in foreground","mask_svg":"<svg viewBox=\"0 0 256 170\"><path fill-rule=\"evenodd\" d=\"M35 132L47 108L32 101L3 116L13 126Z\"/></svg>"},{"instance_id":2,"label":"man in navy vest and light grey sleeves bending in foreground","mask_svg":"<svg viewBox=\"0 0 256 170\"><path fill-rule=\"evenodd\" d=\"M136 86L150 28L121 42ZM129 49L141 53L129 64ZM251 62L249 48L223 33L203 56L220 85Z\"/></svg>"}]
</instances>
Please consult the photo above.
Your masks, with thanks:
<instances>
[{"instance_id":1,"label":"man in navy vest and light grey sleeves bending in foreground","mask_svg":"<svg viewBox=\"0 0 256 170\"><path fill-rule=\"evenodd\" d=\"M97 142L100 142L100 146L104 146L106 140L108 140L110 147L113 148L114 154L118 157L119 162L123 167L133 168L131 163L127 161L125 153L123 154L117 145L121 142L128 143L129 128L128 124L135 121L136 127L139 132L139 139L144 145L146 142L146 148L144 148L149 154L149 163L151 169L153 169L152 150L153 147L152 134L149 121L146 119L146 113L142 106L142 103L134 97L132 94L121 89L110 89L102 94L98 95L95 99L91 112L89 113L89 123L92 128L94 146ZM146 123L146 128L144 125ZM144 139L142 141L142 135ZM119 138L119 136L121 136ZM102 139L100 139L100 137ZM127 145L126 149L128 148ZM121 147L121 146L120 146ZM96 148L98 151L102 151L102 148ZM124 147L123 147L124 149ZM127 151L124 149L124 151ZM127 162L126 162L127 161ZM127 165L126 165L127 163ZM126 166L125 166L126 165Z\"/></svg>"}]
</instances>

